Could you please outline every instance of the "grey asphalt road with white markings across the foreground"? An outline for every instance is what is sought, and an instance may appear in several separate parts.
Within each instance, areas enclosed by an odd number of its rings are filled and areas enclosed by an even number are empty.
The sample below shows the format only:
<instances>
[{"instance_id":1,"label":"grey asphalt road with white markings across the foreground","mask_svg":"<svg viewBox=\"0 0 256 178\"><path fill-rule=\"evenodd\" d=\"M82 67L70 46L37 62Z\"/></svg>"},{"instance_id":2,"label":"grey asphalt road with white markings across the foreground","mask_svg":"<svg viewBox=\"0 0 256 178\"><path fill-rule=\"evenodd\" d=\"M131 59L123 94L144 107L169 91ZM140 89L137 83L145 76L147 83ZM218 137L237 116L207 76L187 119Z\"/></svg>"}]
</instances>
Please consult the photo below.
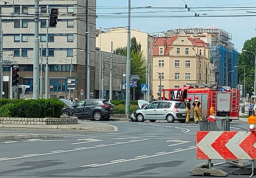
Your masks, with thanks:
<instances>
[{"instance_id":1,"label":"grey asphalt road with white markings across the foreground","mask_svg":"<svg viewBox=\"0 0 256 178\"><path fill-rule=\"evenodd\" d=\"M191 176L188 171L204 162L196 160L197 124L102 123L117 126L119 131L1 128L0 134L48 133L63 137L2 141L0 177L176 178ZM248 130L248 124L232 122L231 130ZM227 165L216 168L230 174L237 169Z\"/></svg>"}]
</instances>

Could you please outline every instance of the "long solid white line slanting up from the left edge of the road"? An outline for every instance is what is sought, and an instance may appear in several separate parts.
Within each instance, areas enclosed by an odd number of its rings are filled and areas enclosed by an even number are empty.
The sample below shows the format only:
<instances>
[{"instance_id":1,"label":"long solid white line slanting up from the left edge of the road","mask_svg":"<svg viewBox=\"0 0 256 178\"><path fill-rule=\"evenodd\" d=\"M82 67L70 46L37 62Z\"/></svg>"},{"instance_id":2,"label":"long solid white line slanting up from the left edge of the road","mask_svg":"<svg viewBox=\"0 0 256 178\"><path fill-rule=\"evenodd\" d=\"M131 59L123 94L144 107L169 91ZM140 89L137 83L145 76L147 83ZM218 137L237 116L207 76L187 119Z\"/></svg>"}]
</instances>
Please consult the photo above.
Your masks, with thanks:
<instances>
[{"instance_id":1,"label":"long solid white line slanting up from the left edge of the road","mask_svg":"<svg viewBox=\"0 0 256 178\"><path fill-rule=\"evenodd\" d=\"M14 158L2 159L0 161L15 160L15 159L20 159L20 158L34 157L34 156L44 156L44 155L58 154L58 153L65 153L65 152L74 152L74 151L77 151L77 150L87 150L87 149L92 149L92 148L100 148L100 147L114 146L114 145L120 145L120 144L126 144L126 143L141 142L141 141L145 141L145 140L148 140L148 139L136 140L136 141L132 141L132 142L122 142L122 143L116 143L116 144L109 144L109 145L103 145L103 146L92 146L92 147L88 147L88 148L79 148L79 149L65 150L65 151L61 151L61 152L43 153L43 154L30 155L30 156L19 156L19 157L14 157Z\"/></svg>"}]
</instances>

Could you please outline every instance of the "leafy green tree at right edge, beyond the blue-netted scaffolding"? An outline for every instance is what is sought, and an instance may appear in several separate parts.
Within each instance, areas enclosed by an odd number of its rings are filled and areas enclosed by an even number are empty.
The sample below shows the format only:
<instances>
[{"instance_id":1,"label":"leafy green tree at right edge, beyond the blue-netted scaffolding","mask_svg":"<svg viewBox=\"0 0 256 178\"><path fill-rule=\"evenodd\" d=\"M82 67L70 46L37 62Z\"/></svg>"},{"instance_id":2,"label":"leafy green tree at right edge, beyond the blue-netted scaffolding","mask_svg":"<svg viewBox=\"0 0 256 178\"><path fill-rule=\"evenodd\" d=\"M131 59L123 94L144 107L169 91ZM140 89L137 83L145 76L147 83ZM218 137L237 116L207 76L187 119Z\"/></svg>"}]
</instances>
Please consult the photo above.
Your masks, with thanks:
<instances>
[{"instance_id":1,"label":"leafy green tree at right edge, beyond the blue-netted scaffolding","mask_svg":"<svg viewBox=\"0 0 256 178\"><path fill-rule=\"evenodd\" d=\"M256 54L256 37L253 37L250 40L246 40L244 42L244 46L242 50L248 50ZM254 91L254 60L255 60L254 54L252 54L251 52L242 52L238 54L238 66L245 68L246 76L252 75L245 78L245 84L247 85L246 92L250 93L250 95L252 95L252 92ZM239 83L239 76L241 74L244 74L244 69L238 68L238 83ZM244 84L243 76L241 76L241 84L242 85Z\"/></svg>"}]
</instances>

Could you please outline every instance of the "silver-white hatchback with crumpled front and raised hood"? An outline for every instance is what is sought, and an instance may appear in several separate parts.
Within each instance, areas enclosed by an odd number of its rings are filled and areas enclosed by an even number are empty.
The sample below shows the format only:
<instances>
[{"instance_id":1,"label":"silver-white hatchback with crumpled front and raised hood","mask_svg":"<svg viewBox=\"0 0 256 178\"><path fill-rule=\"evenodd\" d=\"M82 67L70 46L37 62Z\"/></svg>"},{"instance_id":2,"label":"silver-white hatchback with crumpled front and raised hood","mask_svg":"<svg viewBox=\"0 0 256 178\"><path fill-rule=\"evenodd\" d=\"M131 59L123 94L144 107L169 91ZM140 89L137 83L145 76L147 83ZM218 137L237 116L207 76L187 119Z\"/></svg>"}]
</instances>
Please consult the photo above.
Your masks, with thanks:
<instances>
[{"instance_id":1,"label":"silver-white hatchback with crumpled front and raised hood","mask_svg":"<svg viewBox=\"0 0 256 178\"><path fill-rule=\"evenodd\" d=\"M147 104L144 108L144 104ZM148 103L144 100L138 100L139 108L131 115L132 121L144 122L149 120L155 122L156 120L167 120L168 122L186 122L186 105L184 102L178 101L154 101Z\"/></svg>"}]
</instances>

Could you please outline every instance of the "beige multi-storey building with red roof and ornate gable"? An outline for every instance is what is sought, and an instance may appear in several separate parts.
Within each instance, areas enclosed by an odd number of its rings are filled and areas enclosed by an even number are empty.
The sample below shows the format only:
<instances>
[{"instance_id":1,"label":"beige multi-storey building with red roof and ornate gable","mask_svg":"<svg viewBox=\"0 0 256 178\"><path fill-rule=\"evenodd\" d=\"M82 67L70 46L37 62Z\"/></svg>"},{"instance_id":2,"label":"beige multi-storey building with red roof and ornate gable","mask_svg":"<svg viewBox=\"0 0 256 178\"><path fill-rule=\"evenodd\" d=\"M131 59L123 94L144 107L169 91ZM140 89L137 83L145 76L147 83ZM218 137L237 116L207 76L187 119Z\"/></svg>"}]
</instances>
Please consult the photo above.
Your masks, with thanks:
<instances>
[{"instance_id":1,"label":"beige multi-storey building with red roof and ornate gable","mask_svg":"<svg viewBox=\"0 0 256 178\"><path fill-rule=\"evenodd\" d=\"M210 49L199 38L183 31L172 37L154 38L153 95L164 88L179 88L186 83L210 83ZM161 79L161 86L160 86Z\"/></svg>"}]
</instances>

